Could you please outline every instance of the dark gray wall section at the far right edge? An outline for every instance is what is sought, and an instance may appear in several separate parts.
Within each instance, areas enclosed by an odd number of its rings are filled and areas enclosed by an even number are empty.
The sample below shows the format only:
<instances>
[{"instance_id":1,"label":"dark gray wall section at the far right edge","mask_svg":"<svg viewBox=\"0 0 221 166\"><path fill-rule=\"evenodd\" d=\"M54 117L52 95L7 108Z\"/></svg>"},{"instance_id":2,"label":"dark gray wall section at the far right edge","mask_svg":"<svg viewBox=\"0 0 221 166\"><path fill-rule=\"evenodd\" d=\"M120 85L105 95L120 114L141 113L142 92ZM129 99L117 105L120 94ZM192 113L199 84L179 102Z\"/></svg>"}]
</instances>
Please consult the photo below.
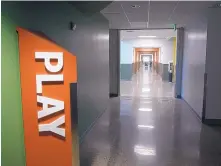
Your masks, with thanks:
<instances>
[{"instance_id":1,"label":"dark gray wall section at the far right edge","mask_svg":"<svg viewBox=\"0 0 221 166\"><path fill-rule=\"evenodd\" d=\"M211 8L206 55L206 119L221 119L221 8Z\"/></svg>"}]
</instances>

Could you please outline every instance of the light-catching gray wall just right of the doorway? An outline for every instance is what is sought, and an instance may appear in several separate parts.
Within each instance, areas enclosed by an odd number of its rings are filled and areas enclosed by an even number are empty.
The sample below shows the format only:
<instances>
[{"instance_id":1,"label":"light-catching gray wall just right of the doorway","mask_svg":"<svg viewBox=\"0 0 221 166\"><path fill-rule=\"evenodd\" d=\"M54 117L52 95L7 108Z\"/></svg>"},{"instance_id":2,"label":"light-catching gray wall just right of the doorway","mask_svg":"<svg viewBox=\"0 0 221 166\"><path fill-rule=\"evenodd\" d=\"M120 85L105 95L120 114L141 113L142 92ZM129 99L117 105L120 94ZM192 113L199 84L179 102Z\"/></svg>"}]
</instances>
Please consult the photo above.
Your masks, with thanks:
<instances>
[{"instance_id":1,"label":"light-catching gray wall just right of the doorway","mask_svg":"<svg viewBox=\"0 0 221 166\"><path fill-rule=\"evenodd\" d=\"M207 17L192 19L184 29L182 97L202 117Z\"/></svg>"}]
</instances>

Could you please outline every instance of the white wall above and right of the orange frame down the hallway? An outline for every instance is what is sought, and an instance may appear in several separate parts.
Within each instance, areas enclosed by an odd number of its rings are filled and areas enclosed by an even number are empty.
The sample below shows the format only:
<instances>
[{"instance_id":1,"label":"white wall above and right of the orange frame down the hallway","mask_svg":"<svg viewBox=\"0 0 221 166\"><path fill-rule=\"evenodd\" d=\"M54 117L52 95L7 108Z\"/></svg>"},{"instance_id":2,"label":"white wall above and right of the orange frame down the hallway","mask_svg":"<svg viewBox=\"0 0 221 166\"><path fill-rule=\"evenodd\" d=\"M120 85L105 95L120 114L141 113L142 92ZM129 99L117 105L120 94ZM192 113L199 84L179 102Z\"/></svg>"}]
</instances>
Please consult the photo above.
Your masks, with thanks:
<instances>
[{"instance_id":1,"label":"white wall above and right of the orange frame down the hallway","mask_svg":"<svg viewBox=\"0 0 221 166\"><path fill-rule=\"evenodd\" d=\"M132 39L125 40L124 43L129 43L132 47L160 47L159 62L168 64L169 61L173 60L173 41L166 39Z\"/></svg>"}]
</instances>

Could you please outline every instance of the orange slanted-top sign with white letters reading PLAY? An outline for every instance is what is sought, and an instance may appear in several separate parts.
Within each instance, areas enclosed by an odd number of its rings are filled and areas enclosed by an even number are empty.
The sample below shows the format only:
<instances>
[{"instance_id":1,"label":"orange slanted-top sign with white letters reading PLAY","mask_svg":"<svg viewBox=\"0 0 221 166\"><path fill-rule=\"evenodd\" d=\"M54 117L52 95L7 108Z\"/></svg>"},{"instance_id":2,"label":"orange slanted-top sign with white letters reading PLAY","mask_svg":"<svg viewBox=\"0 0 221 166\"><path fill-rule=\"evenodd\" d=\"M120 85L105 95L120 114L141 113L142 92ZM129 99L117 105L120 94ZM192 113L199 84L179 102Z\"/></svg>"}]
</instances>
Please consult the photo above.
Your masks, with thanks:
<instances>
[{"instance_id":1,"label":"orange slanted-top sign with white letters reading PLAY","mask_svg":"<svg viewBox=\"0 0 221 166\"><path fill-rule=\"evenodd\" d=\"M71 127L76 103L70 99L76 56L24 29L18 34L26 165L77 165L77 131Z\"/></svg>"}]
</instances>

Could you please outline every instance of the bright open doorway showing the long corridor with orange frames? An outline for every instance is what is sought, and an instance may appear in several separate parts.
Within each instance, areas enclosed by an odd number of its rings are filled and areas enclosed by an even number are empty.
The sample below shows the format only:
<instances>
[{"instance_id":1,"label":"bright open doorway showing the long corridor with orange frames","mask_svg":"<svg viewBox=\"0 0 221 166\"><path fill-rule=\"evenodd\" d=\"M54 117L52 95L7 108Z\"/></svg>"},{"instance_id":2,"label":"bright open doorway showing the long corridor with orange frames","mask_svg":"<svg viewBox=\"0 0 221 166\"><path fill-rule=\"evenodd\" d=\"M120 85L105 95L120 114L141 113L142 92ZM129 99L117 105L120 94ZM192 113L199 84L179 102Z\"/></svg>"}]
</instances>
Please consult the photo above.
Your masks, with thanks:
<instances>
[{"instance_id":1,"label":"bright open doorway showing the long corridor with orange frames","mask_svg":"<svg viewBox=\"0 0 221 166\"><path fill-rule=\"evenodd\" d=\"M163 31L120 32L120 96L174 97L176 32Z\"/></svg>"}]
</instances>

